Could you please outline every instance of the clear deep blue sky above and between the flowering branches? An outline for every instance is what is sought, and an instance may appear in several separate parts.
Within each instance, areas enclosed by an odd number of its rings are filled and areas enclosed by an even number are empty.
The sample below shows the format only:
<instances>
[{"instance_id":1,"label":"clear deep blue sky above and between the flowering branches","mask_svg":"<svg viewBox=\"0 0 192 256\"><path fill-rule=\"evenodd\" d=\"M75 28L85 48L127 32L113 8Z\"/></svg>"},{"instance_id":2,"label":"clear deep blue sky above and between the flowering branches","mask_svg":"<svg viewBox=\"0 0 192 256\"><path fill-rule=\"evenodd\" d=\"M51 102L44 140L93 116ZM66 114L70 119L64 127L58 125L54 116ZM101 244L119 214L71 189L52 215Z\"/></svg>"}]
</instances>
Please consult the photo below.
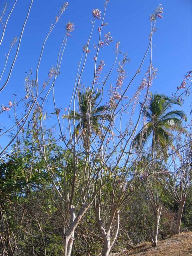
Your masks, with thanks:
<instances>
[{"instance_id":1,"label":"clear deep blue sky above and between the flowering branches","mask_svg":"<svg viewBox=\"0 0 192 256\"><path fill-rule=\"evenodd\" d=\"M6 0L0 0L0 10ZM13 0L8 0L9 9L13 5ZM14 93L17 93L16 100L25 95L24 78L25 72L30 69L33 71L35 78L35 69L40 54L43 39L50 29L50 24L54 22L63 1L61 0L34 0L30 17L27 21L21 48L11 79L7 87L0 94L0 104L7 105L8 100L14 101ZM153 92L165 93L171 95L182 82L183 76L187 71L192 69L192 1L191 0L110 0L105 22L109 23L104 27L104 33L111 32L113 43L104 49L101 49L99 60L105 61L103 76L108 72L114 60L113 48L117 41L120 41L121 50L127 52L130 63L126 66L127 79L124 86L128 83L134 72L138 69L140 61L149 43L150 21L149 16L155 8L162 4L164 7L163 19L158 19L158 31L154 35L153 40L153 65L159 70L157 79L154 80ZM18 0L18 3L9 20L5 38L0 47L0 70L5 61L5 53L8 52L10 41L14 36L19 36L22 23L25 19L26 12L30 0ZM103 0L71 0L69 7L57 24L56 29L47 41L43 54L42 63L39 69L40 85L47 79L47 73L52 65L56 65L56 58L63 35L65 33L66 23L70 20L75 24L75 30L69 38L67 48L64 54L61 66L61 75L56 83L56 101L57 107L68 107L69 97L71 95L75 75L77 71L77 63L80 61L82 53L82 45L86 44L88 39L92 19L93 8L104 10ZM86 72L82 78L85 86L90 86L92 80L92 65L95 50L94 42L97 41L97 27L100 20L96 20L95 34L90 43L90 50ZM0 33L2 27L0 27ZM16 49L14 49L15 51ZM11 57L14 56L14 51ZM10 59L11 60L11 59ZM10 61L8 67L10 67ZM134 90L140 83L147 67L149 66L149 58L141 70L138 79L133 85ZM6 79L6 74L1 81ZM91 75L90 75L91 74ZM114 72L109 83L115 83L116 72ZM127 95L129 96L129 95ZM51 102L51 101L50 101ZM189 99L188 99L189 102ZM54 111L54 106L50 103L45 105L48 112ZM22 111L18 106L18 112ZM7 122L7 114L12 114L13 110L1 114L0 124Z\"/></svg>"}]
</instances>

